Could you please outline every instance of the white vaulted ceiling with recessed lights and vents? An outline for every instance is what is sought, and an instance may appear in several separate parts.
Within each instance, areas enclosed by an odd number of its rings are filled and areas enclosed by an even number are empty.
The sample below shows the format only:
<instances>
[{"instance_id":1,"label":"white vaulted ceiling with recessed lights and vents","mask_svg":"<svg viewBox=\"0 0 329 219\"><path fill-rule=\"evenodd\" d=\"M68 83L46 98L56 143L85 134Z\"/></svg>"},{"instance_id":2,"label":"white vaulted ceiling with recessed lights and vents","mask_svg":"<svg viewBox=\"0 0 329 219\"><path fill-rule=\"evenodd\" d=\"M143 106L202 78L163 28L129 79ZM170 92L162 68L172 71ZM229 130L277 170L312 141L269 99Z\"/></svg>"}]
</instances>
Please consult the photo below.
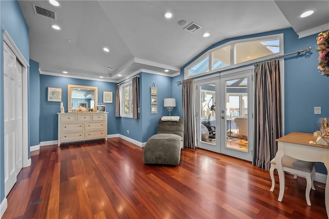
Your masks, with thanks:
<instances>
[{"instance_id":1,"label":"white vaulted ceiling with recessed lights and vents","mask_svg":"<svg viewBox=\"0 0 329 219\"><path fill-rule=\"evenodd\" d=\"M101 81L120 82L140 69L177 75L206 48L231 37L289 27L303 37L329 29L329 0L59 2L54 7L47 1L20 1L29 27L30 58L44 74ZM32 3L55 11L57 19L34 14ZM308 9L316 12L298 17ZM166 11L174 14L172 19L163 18ZM202 28L189 33L177 24L181 19ZM53 30L51 24L62 29ZM211 35L202 37L205 32Z\"/></svg>"}]
</instances>

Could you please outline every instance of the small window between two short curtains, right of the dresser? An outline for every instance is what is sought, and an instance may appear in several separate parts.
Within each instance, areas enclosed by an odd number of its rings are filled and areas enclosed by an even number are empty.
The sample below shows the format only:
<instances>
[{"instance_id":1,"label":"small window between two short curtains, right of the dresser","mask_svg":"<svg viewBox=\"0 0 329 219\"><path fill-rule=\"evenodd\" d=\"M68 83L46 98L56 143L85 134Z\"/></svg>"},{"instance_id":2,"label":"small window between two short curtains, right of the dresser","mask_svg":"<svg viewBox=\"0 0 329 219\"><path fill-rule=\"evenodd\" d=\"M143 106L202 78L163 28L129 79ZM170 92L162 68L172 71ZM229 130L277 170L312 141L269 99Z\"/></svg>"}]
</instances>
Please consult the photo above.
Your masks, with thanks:
<instances>
[{"instance_id":1,"label":"small window between two short curtains, right of the dresser","mask_svg":"<svg viewBox=\"0 0 329 219\"><path fill-rule=\"evenodd\" d=\"M133 83L120 85L120 114L122 117L133 117Z\"/></svg>"}]
</instances>

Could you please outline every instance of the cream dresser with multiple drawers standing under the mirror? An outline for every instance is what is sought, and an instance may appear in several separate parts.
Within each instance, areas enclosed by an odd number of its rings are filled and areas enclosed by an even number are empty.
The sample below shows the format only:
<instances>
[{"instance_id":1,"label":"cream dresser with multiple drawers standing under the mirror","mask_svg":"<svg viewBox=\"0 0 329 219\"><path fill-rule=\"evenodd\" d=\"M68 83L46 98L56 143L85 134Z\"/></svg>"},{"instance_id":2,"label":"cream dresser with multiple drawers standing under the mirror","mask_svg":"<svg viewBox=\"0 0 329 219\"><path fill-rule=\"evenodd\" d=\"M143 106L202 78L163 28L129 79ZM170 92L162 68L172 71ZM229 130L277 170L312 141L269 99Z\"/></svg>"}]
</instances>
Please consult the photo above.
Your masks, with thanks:
<instances>
[{"instance_id":1,"label":"cream dresser with multiple drawers standing under the mirror","mask_svg":"<svg viewBox=\"0 0 329 219\"><path fill-rule=\"evenodd\" d=\"M58 146L67 142L107 140L107 112L57 114Z\"/></svg>"}]
</instances>

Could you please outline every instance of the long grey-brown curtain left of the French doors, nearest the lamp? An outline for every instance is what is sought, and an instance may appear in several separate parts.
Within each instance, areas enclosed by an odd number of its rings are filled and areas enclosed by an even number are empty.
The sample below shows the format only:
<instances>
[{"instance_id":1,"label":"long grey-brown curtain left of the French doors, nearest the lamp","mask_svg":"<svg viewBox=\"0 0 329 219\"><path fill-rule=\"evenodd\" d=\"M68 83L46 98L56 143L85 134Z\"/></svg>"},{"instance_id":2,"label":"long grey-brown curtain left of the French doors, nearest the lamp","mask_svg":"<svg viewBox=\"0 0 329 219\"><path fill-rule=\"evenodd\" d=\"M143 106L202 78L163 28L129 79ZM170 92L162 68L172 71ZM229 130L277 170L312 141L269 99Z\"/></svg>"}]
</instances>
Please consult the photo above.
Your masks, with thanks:
<instances>
[{"instance_id":1,"label":"long grey-brown curtain left of the French doors, nearest the lamp","mask_svg":"<svg viewBox=\"0 0 329 219\"><path fill-rule=\"evenodd\" d=\"M195 148L195 109L193 79L182 81L182 104L184 115L184 145Z\"/></svg>"}]
</instances>

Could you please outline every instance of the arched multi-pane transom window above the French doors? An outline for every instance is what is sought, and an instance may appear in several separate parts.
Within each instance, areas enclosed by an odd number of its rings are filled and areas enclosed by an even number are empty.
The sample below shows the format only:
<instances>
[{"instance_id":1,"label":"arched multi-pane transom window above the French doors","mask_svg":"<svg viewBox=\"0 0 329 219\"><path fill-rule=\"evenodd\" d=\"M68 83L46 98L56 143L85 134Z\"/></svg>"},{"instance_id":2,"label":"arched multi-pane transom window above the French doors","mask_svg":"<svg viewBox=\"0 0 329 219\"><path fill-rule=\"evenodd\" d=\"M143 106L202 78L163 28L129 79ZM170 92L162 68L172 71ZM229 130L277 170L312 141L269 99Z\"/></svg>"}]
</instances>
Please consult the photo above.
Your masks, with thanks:
<instances>
[{"instance_id":1,"label":"arched multi-pane transom window above the French doors","mask_svg":"<svg viewBox=\"0 0 329 219\"><path fill-rule=\"evenodd\" d=\"M249 65L283 54L283 34L231 41L208 50L184 69L185 78Z\"/></svg>"}]
</instances>

